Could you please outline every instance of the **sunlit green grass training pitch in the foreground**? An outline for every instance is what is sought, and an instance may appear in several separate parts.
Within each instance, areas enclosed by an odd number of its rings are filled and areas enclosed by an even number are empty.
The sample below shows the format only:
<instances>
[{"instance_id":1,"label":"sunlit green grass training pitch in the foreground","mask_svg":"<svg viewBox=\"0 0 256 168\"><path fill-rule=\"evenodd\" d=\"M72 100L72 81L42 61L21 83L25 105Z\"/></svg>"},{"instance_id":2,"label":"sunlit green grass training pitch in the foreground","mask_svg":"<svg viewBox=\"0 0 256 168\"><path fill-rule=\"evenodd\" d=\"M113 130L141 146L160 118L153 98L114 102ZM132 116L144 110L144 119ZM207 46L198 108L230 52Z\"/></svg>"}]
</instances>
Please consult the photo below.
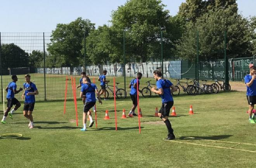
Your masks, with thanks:
<instances>
[{"instance_id":1,"label":"sunlit green grass training pitch in the foreground","mask_svg":"<svg viewBox=\"0 0 256 168\"><path fill-rule=\"evenodd\" d=\"M63 101L38 102L35 105L35 128L29 130L28 120L20 108L0 125L0 134L18 133L17 139L0 139L1 166L4 168L81 168L81 167L255 167L256 153L219 147L231 147L230 142L256 144L256 124L247 117L247 100L244 92L215 95L175 97L177 117L170 121L175 141L185 142L186 137L210 139L188 141L194 144L164 141L166 126L153 117L160 98L140 99L143 118L141 134L138 118L121 119L131 107L130 99L117 101L118 131L115 131L113 100L97 103L98 129L95 124L81 132L82 103L78 101L79 127L76 127L73 101L67 102L63 115ZM188 115L193 105L194 115ZM103 120L109 110L111 120ZM93 115L94 118L94 115ZM186 139L187 141L188 139ZM228 142L228 143L227 143ZM256 151L256 146L240 144L236 149Z\"/></svg>"}]
</instances>

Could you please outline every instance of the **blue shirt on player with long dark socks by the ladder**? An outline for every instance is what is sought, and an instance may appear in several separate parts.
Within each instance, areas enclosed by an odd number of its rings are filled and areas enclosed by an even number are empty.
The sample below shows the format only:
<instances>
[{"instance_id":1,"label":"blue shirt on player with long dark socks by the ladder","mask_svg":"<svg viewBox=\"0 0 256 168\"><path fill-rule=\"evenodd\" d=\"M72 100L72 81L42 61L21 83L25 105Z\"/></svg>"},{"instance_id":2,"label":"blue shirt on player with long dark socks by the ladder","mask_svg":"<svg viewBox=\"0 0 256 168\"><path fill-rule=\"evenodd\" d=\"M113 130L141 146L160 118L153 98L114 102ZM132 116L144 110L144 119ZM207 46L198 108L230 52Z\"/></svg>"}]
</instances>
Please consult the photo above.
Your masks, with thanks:
<instances>
[{"instance_id":1,"label":"blue shirt on player with long dark socks by the ladder","mask_svg":"<svg viewBox=\"0 0 256 168\"><path fill-rule=\"evenodd\" d=\"M166 83L166 82L168 82L168 83ZM171 85L173 85L173 84L169 80L164 81L164 79L160 79L160 80L156 81L157 89L162 88L164 91L164 94L160 95L162 98L162 103L166 103L168 101L173 101L173 96L171 95L171 89L170 89Z\"/></svg>"}]
</instances>

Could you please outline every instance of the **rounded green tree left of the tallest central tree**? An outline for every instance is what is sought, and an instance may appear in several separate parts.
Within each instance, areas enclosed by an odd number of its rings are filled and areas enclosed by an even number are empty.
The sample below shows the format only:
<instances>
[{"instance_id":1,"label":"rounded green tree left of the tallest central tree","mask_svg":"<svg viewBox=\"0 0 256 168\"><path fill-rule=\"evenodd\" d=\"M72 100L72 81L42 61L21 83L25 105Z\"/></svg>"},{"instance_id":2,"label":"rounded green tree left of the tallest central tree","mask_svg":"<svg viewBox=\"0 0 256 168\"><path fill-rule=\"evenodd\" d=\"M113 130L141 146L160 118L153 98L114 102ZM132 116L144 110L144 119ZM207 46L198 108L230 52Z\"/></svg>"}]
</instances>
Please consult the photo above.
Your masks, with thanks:
<instances>
[{"instance_id":1,"label":"rounded green tree left of the tallest central tree","mask_svg":"<svg viewBox=\"0 0 256 168\"><path fill-rule=\"evenodd\" d=\"M47 49L51 54L52 67L82 65L84 32L88 36L88 33L95 29L94 25L90 20L81 17L69 24L57 24Z\"/></svg>"}]
</instances>

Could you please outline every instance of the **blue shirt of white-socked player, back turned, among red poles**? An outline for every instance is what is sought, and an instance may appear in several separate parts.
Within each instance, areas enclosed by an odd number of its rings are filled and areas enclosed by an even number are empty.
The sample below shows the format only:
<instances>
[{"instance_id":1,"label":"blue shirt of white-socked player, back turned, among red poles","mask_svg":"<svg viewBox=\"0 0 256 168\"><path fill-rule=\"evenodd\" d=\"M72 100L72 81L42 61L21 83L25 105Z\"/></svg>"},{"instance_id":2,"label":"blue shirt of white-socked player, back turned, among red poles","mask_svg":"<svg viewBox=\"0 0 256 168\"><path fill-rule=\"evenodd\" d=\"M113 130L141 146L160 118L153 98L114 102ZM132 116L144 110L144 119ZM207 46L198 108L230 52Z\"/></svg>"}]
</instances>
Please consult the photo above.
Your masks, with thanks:
<instances>
[{"instance_id":1,"label":"blue shirt of white-socked player, back turned, among red poles","mask_svg":"<svg viewBox=\"0 0 256 168\"><path fill-rule=\"evenodd\" d=\"M86 102L96 102L95 89L97 86L93 83L86 83L81 87L81 92L86 96Z\"/></svg>"}]
</instances>

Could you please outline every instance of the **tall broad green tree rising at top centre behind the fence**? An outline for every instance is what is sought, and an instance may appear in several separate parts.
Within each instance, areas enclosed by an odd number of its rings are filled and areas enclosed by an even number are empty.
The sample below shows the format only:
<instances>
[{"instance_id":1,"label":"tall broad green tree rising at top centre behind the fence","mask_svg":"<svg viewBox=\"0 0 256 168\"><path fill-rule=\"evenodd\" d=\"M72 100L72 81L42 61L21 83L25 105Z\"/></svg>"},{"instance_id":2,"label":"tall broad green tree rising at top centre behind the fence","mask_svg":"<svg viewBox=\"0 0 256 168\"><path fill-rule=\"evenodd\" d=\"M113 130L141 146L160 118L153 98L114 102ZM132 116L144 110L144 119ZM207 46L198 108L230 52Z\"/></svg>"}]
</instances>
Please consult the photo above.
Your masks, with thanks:
<instances>
[{"instance_id":1,"label":"tall broad green tree rising at top centre behind the fence","mask_svg":"<svg viewBox=\"0 0 256 168\"><path fill-rule=\"evenodd\" d=\"M126 30L126 59L146 62L160 56L161 28L170 24L161 0L129 0L112 12L112 28L122 41Z\"/></svg>"}]
</instances>

